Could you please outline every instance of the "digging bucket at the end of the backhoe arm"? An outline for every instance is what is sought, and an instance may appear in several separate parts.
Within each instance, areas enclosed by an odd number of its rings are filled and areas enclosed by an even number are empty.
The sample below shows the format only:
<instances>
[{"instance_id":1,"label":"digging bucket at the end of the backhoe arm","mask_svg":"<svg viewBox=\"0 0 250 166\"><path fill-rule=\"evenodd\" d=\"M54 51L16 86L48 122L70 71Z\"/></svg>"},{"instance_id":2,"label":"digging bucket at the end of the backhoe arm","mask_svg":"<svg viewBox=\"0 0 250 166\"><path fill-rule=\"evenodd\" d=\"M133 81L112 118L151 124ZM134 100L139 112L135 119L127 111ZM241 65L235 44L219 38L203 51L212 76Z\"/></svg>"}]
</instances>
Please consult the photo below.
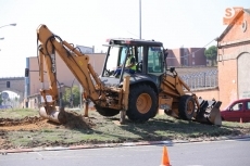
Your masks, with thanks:
<instances>
[{"instance_id":1,"label":"digging bucket at the end of the backhoe arm","mask_svg":"<svg viewBox=\"0 0 250 166\"><path fill-rule=\"evenodd\" d=\"M58 123L58 124L65 124L65 111L55 107L49 107L46 110L46 107L40 107L39 115L46 119L49 119L51 122Z\"/></svg>"}]
</instances>

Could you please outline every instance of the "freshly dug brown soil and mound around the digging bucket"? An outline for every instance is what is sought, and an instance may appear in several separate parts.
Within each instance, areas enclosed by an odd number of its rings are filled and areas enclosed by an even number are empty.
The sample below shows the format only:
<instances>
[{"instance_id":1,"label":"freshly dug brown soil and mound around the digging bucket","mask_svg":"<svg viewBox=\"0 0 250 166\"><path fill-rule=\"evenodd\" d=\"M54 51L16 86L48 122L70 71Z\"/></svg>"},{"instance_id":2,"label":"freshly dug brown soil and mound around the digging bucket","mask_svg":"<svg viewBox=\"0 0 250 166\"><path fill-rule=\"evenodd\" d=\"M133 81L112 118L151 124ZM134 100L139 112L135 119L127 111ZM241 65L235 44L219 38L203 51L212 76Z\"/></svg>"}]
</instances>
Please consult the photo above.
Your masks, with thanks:
<instances>
[{"instance_id":1,"label":"freshly dug brown soil and mound around the digging bucket","mask_svg":"<svg viewBox=\"0 0 250 166\"><path fill-rule=\"evenodd\" d=\"M48 129L91 129L95 127L95 123L91 118L85 118L75 112L65 112L66 123L61 125L38 116L26 116L24 118L0 118L0 149L15 148L10 141L8 141L8 132L10 131L28 131L34 132ZM60 142L58 142L60 144ZM63 143L61 143L63 144ZM30 148L38 146L39 143L34 142L29 144ZM47 146L53 145L53 142L47 142Z\"/></svg>"}]
</instances>

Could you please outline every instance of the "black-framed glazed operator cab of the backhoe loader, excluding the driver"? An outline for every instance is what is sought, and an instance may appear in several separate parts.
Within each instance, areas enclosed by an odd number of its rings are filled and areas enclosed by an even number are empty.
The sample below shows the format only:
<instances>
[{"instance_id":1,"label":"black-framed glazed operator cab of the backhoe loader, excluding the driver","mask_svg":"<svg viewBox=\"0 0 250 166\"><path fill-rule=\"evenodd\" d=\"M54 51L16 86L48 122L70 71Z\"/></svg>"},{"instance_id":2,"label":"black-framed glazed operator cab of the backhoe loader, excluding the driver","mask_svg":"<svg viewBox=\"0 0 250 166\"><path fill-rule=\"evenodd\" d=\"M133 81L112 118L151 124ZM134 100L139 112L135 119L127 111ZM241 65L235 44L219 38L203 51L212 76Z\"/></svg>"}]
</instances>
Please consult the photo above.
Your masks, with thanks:
<instances>
[{"instance_id":1,"label":"black-framed glazed operator cab of the backhoe loader, excluding the driver","mask_svg":"<svg viewBox=\"0 0 250 166\"><path fill-rule=\"evenodd\" d=\"M160 76L165 72L165 55L162 42L154 40L138 39L110 39L108 40L105 63L101 78L122 78L126 75L138 76ZM135 59L135 73L125 69L126 60L132 54ZM146 63L145 63L146 62ZM117 66L121 66L121 74L114 75Z\"/></svg>"}]
</instances>

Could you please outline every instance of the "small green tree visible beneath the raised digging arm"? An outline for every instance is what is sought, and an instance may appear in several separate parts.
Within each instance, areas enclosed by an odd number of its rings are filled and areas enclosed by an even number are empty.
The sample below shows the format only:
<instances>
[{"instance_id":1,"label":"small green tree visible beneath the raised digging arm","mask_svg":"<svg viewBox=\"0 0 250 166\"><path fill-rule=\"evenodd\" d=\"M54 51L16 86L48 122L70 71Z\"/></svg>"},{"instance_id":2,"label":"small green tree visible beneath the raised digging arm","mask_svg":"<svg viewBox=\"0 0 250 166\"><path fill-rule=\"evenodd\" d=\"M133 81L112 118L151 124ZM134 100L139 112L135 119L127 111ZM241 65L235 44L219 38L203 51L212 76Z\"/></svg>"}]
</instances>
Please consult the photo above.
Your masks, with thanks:
<instances>
[{"instance_id":1,"label":"small green tree visible beneath the raised digging arm","mask_svg":"<svg viewBox=\"0 0 250 166\"><path fill-rule=\"evenodd\" d=\"M79 105L80 94L79 94L79 87L73 86L71 88L66 88L63 94L63 102L64 105L74 106Z\"/></svg>"}]
</instances>

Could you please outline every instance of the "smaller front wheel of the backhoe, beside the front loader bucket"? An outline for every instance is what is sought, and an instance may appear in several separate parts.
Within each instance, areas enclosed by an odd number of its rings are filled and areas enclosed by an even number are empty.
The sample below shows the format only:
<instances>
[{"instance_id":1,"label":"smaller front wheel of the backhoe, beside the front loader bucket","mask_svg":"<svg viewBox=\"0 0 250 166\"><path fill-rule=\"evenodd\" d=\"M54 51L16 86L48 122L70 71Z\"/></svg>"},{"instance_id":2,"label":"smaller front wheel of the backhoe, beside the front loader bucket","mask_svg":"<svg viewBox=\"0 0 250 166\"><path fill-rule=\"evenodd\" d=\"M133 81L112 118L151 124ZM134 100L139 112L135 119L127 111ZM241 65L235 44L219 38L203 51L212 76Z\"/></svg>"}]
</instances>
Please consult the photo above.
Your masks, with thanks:
<instances>
[{"instance_id":1,"label":"smaller front wheel of the backhoe, beside the front loader bucket","mask_svg":"<svg viewBox=\"0 0 250 166\"><path fill-rule=\"evenodd\" d=\"M195 99L188 94L180 97L178 111L182 119L190 120L196 111Z\"/></svg>"}]
</instances>

